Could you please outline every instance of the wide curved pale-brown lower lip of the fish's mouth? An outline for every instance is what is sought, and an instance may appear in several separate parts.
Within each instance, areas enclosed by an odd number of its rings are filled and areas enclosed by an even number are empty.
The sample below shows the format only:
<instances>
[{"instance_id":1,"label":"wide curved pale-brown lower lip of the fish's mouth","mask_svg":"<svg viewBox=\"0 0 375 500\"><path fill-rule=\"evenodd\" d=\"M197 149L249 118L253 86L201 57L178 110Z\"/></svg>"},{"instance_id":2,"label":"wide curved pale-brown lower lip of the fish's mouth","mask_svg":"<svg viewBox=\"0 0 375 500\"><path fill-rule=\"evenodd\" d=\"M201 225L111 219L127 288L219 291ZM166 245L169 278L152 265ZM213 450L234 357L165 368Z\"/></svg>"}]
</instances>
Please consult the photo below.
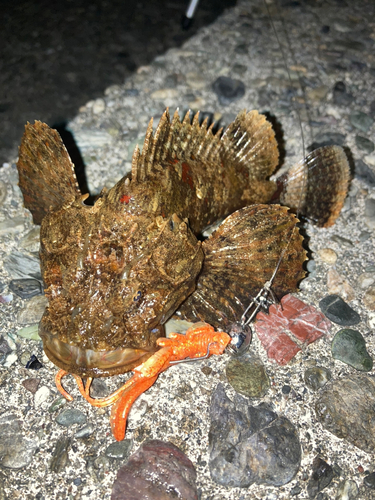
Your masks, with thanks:
<instances>
[{"instance_id":1,"label":"wide curved pale-brown lower lip of the fish's mouth","mask_svg":"<svg viewBox=\"0 0 375 500\"><path fill-rule=\"evenodd\" d=\"M146 361L157 350L132 347L119 347L112 351L83 349L60 340L57 335L48 331L42 321L39 324L39 335L43 340L44 352L52 363L84 378L126 373ZM162 331L160 336L163 336Z\"/></svg>"}]
</instances>

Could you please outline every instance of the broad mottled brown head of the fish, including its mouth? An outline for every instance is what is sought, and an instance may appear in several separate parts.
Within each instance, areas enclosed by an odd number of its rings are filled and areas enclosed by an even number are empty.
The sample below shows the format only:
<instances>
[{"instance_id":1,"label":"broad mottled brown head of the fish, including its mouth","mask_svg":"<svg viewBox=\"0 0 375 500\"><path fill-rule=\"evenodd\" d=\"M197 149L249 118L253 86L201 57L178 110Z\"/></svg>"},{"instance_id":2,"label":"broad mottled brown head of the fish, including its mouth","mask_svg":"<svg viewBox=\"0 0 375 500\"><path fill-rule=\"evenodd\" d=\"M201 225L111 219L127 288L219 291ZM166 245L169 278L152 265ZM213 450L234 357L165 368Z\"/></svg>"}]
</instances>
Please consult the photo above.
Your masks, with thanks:
<instances>
[{"instance_id":1,"label":"broad mottled brown head of the fish, including its mouth","mask_svg":"<svg viewBox=\"0 0 375 500\"><path fill-rule=\"evenodd\" d=\"M195 289L201 243L177 215L76 200L41 226L47 356L81 376L124 373L157 350L164 322Z\"/></svg>"}]
</instances>

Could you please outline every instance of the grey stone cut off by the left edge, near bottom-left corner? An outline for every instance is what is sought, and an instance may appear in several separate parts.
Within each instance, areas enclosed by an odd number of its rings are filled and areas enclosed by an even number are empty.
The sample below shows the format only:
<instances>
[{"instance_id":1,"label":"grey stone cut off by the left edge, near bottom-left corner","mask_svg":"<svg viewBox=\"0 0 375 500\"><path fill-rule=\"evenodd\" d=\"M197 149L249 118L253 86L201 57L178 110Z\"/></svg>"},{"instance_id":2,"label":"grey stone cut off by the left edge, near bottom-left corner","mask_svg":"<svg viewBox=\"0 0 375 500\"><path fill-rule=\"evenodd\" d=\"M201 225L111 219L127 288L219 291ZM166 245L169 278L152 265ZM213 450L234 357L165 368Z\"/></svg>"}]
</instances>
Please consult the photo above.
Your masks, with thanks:
<instances>
[{"instance_id":1,"label":"grey stone cut off by the left edge, near bottom-left corner","mask_svg":"<svg viewBox=\"0 0 375 500\"><path fill-rule=\"evenodd\" d=\"M0 465L9 469L22 469L33 460L36 440L22 435L21 422L14 414L0 416Z\"/></svg>"}]
</instances>

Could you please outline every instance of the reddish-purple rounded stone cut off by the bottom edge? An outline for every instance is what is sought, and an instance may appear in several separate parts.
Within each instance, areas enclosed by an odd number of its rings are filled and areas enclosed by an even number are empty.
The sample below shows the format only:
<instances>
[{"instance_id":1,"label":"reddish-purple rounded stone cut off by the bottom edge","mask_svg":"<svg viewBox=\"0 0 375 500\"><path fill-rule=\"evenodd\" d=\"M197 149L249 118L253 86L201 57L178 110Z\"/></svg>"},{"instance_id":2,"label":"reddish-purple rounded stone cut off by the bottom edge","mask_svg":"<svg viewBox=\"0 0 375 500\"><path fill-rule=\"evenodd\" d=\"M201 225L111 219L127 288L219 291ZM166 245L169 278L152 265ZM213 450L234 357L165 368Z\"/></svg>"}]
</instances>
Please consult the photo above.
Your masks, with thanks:
<instances>
[{"instance_id":1,"label":"reddish-purple rounded stone cut off by the bottom edge","mask_svg":"<svg viewBox=\"0 0 375 500\"><path fill-rule=\"evenodd\" d=\"M198 500L191 461L171 443L147 441L122 466L111 500Z\"/></svg>"}]
</instances>

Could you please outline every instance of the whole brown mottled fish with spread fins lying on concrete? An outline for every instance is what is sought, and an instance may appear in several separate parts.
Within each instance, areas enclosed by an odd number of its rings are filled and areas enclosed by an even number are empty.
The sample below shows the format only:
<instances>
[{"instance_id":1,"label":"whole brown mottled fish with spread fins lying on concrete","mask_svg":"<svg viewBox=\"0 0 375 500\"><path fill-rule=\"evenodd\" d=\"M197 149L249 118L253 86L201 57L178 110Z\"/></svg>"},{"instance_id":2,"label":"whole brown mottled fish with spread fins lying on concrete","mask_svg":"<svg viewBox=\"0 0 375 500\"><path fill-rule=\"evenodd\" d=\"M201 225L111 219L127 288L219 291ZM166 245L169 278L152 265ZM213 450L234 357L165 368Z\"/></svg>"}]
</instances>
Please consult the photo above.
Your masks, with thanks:
<instances>
[{"instance_id":1,"label":"whole brown mottled fish with spread fins lying on concrete","mask_svg":"<svg viewBox=\"0 0 375 500\"><path fill-rule=\"evenodd\" d=\"M41 223L49 303L40 335L51 361L82 377L129 371L158 349L177 310L225 330L283 252L273 290L279 298L295 290L306 253L296 216L268 204L277 164L274 132L257 111L241 112L223 134L198 114L181 122L166 111L136 148L131 175L87 206L58 133L26 125L18 170L25 206ZM316 150L290 170L282 203L328 226L348 178L341 148Z\"/></svg>"}]
</instances>

